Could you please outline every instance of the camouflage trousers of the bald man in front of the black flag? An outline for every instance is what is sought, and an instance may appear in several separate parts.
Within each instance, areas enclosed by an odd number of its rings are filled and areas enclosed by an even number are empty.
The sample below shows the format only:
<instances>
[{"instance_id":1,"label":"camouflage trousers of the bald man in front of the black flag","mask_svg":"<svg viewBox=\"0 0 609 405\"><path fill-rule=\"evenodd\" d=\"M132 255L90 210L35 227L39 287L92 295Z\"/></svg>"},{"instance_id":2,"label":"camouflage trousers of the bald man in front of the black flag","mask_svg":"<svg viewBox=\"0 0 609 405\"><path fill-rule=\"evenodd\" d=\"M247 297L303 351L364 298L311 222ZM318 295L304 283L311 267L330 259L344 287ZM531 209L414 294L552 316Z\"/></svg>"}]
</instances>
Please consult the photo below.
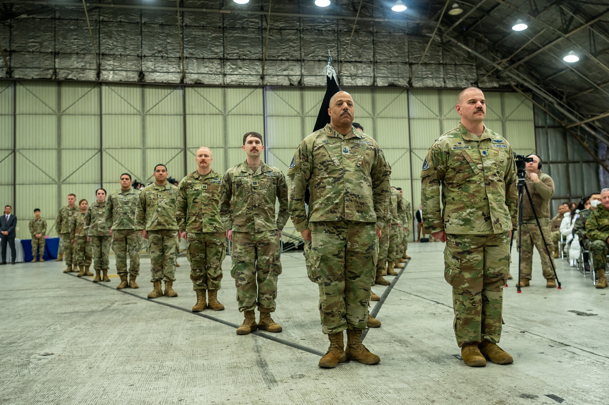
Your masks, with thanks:
<instances>
[{"instance_id":1,"label":"camouflage trousers of the bald man in front of the black flag","mask_svg":"<svg viewBox=\"0 0 609 405\"><path fill-rule=\"evenodd\" d=\"M319 286L323 333L366 328L377 258L376 224L319 221L310 222L309 229L312 241L305 259L309 280Z\"/></svg>"}]
</instances>

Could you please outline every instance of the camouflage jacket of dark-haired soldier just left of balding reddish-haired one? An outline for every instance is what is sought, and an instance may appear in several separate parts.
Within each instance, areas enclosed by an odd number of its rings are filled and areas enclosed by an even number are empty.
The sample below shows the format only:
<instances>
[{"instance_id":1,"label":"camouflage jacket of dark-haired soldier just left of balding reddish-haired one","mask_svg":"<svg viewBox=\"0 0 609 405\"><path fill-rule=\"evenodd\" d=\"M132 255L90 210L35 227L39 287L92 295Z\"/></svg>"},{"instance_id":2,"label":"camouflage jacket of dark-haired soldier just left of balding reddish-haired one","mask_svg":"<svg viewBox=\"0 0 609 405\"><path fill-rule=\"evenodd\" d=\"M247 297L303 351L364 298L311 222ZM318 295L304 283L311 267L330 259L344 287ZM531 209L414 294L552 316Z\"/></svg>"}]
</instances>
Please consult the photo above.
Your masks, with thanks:
<instances>
[{"instance_id":1,"label":"camouflage jacket of dark-haired soldier just left of balding reddish-haired one","mask_svg":"<svg viewBox=\"0 0 609 405\"><path fill-rule=\"evenodd\" d=\"M156 182L140 190L135 210L135 229L178 230L175 208L178 188L170 182L157 185Z\"/></svg>"}]
</instances>

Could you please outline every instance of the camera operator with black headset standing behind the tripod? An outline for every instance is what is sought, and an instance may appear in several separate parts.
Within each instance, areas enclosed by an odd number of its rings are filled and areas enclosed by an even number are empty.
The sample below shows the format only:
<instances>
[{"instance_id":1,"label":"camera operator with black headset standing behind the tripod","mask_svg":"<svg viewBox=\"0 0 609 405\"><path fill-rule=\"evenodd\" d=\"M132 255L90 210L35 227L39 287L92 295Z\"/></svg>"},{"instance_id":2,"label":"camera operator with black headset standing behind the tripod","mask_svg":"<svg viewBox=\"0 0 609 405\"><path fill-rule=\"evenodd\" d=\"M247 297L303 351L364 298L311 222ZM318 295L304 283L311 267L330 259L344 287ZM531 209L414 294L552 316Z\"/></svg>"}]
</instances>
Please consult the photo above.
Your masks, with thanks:
<instances>
[{"instance_id":1,"label":"camera operator with black headset standing behind the tripod","mask_svg":"<svg viewBox=\"0 0 609 405\"><path fill-rule=\"evenodd\" d=\"M550 232L550 199L554 196L554 181L546 173L541 171L541 158L536 154L530 154L527 157L532 157L532 162L526 163L526 187L533 201L534 207L531 206L529 199L523 199L523 226L521 230L521 280L516 283L518 287L526 287L529 285L532 273L533 262L533 245L537 247L537 251L541 256L541 269L543 277L546 279L547 288L556 287L556 279L554 267L551 261L554 260L551 255L547 254L544 246L543 238L537 223L533 209L537 212L537 217L543 230L543 236L546 242L549 243L548 250L550 253L554 251Z\"/></svg>"}]
</instances>

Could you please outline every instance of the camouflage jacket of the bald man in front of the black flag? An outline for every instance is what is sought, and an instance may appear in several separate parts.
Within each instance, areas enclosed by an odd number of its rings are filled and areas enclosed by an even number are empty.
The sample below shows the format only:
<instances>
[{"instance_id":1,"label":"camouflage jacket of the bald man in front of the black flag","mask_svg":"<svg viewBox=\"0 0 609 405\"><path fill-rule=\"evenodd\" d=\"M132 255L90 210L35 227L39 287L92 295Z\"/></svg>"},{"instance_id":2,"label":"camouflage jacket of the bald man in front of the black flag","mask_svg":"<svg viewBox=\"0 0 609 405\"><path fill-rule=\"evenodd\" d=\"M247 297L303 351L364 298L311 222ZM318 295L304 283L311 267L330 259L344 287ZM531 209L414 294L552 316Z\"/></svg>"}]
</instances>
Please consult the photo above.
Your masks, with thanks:
<instances>
[{"instance_id":1,"label":"camouflage jacket of the bald man in front of the black flag","mask_svg":"<svg viewBox=\"0 0 609 405\"><path fill-rule=\"evenodd\" d=\"M294 154L287 176L289 209L298 232L309 221L376 222L382 227L389 207L391 167L379 145L351 126L343 136L327 124L306 137ZM309 185L309 215L305 191Z\"/></svg>"}]
</instances>

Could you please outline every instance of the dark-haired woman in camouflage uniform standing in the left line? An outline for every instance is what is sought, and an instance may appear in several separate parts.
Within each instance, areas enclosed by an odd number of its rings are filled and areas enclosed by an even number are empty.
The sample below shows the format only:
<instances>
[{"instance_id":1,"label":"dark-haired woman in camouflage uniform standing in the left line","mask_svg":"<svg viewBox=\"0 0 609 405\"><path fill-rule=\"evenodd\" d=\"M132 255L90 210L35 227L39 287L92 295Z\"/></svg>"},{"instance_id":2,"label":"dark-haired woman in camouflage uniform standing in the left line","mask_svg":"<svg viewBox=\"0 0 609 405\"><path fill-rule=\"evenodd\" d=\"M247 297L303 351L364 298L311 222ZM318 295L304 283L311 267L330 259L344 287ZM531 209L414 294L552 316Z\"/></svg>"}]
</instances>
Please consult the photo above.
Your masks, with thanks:
<instances>
[{"instance_id":1,"label":"dark-haired woman in camouflage uniform standing in the left line","mask_svg":"<svg viewBox=\"0 0 609 405\"><path fill-rule=\"evenodd\" d=\"M95 192L97 201L89 206L85 215L87 226L87 238L91 242L93 251L93 268L95 269L94 283L108 278L108 268L110 267L110 226L112 223L106 216L106 190L97 189Z\"/></svg>"}]
</instances>

